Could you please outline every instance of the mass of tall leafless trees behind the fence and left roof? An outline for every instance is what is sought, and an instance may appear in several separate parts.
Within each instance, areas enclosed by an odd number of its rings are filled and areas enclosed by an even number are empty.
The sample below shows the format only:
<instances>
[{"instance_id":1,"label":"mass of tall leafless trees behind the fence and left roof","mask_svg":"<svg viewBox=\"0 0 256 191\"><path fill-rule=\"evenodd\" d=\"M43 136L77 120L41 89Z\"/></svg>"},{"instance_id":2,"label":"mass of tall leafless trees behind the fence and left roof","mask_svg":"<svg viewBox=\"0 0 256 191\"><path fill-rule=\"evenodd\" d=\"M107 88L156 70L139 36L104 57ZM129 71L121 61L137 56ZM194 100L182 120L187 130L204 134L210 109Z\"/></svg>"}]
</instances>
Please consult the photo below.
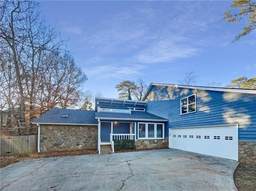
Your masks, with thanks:
<instances>
[{"instance_id":1,"label":"mass of tall leafless trees behind the fence and left roof","mask_svg":"<svg viewBox=\"0 0 256 191\"><path fill-rule=\"evenodd\" d=\"M9 122L13 113L23 126L52 107L76 106L87 77L62 48L59 32L46 23L38 3L0 4L0 104L9 111Z\"/></svg>"}]
</instances>

